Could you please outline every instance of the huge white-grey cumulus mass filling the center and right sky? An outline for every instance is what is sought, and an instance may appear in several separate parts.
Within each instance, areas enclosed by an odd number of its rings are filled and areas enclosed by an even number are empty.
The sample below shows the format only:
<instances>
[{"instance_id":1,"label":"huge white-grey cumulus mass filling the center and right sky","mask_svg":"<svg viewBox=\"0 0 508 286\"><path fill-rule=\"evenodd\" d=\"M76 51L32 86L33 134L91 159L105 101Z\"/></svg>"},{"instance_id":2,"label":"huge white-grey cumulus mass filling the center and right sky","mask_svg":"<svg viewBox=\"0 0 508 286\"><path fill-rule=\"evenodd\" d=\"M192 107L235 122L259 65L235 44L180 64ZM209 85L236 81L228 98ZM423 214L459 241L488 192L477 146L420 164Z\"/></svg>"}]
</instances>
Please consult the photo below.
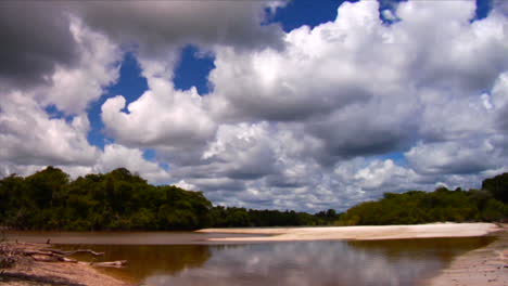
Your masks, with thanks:
<instances>
[{"instance_id":1,"label":"huge white-grey cumulus mass filling the center and right sky","mask_svg":"<svg viewBox=\"0 0 508 286\"><path fill-rule=\"evenodd\" d=\"M155 79L167 67L149 62L150 90L125 113L122 98L107 101L103 119L123 144L174 162L180 185L227 205L343 207L435 180L471 184L503 166L478 157L506 156L495 134L508 68L506 18L473 13L409 1L385 25L377 2L344 3L334 22L287 34L283 49L215 46L205 98ZM393 152L408 165L368 159Z\"/></svg>"}]
</instances>

